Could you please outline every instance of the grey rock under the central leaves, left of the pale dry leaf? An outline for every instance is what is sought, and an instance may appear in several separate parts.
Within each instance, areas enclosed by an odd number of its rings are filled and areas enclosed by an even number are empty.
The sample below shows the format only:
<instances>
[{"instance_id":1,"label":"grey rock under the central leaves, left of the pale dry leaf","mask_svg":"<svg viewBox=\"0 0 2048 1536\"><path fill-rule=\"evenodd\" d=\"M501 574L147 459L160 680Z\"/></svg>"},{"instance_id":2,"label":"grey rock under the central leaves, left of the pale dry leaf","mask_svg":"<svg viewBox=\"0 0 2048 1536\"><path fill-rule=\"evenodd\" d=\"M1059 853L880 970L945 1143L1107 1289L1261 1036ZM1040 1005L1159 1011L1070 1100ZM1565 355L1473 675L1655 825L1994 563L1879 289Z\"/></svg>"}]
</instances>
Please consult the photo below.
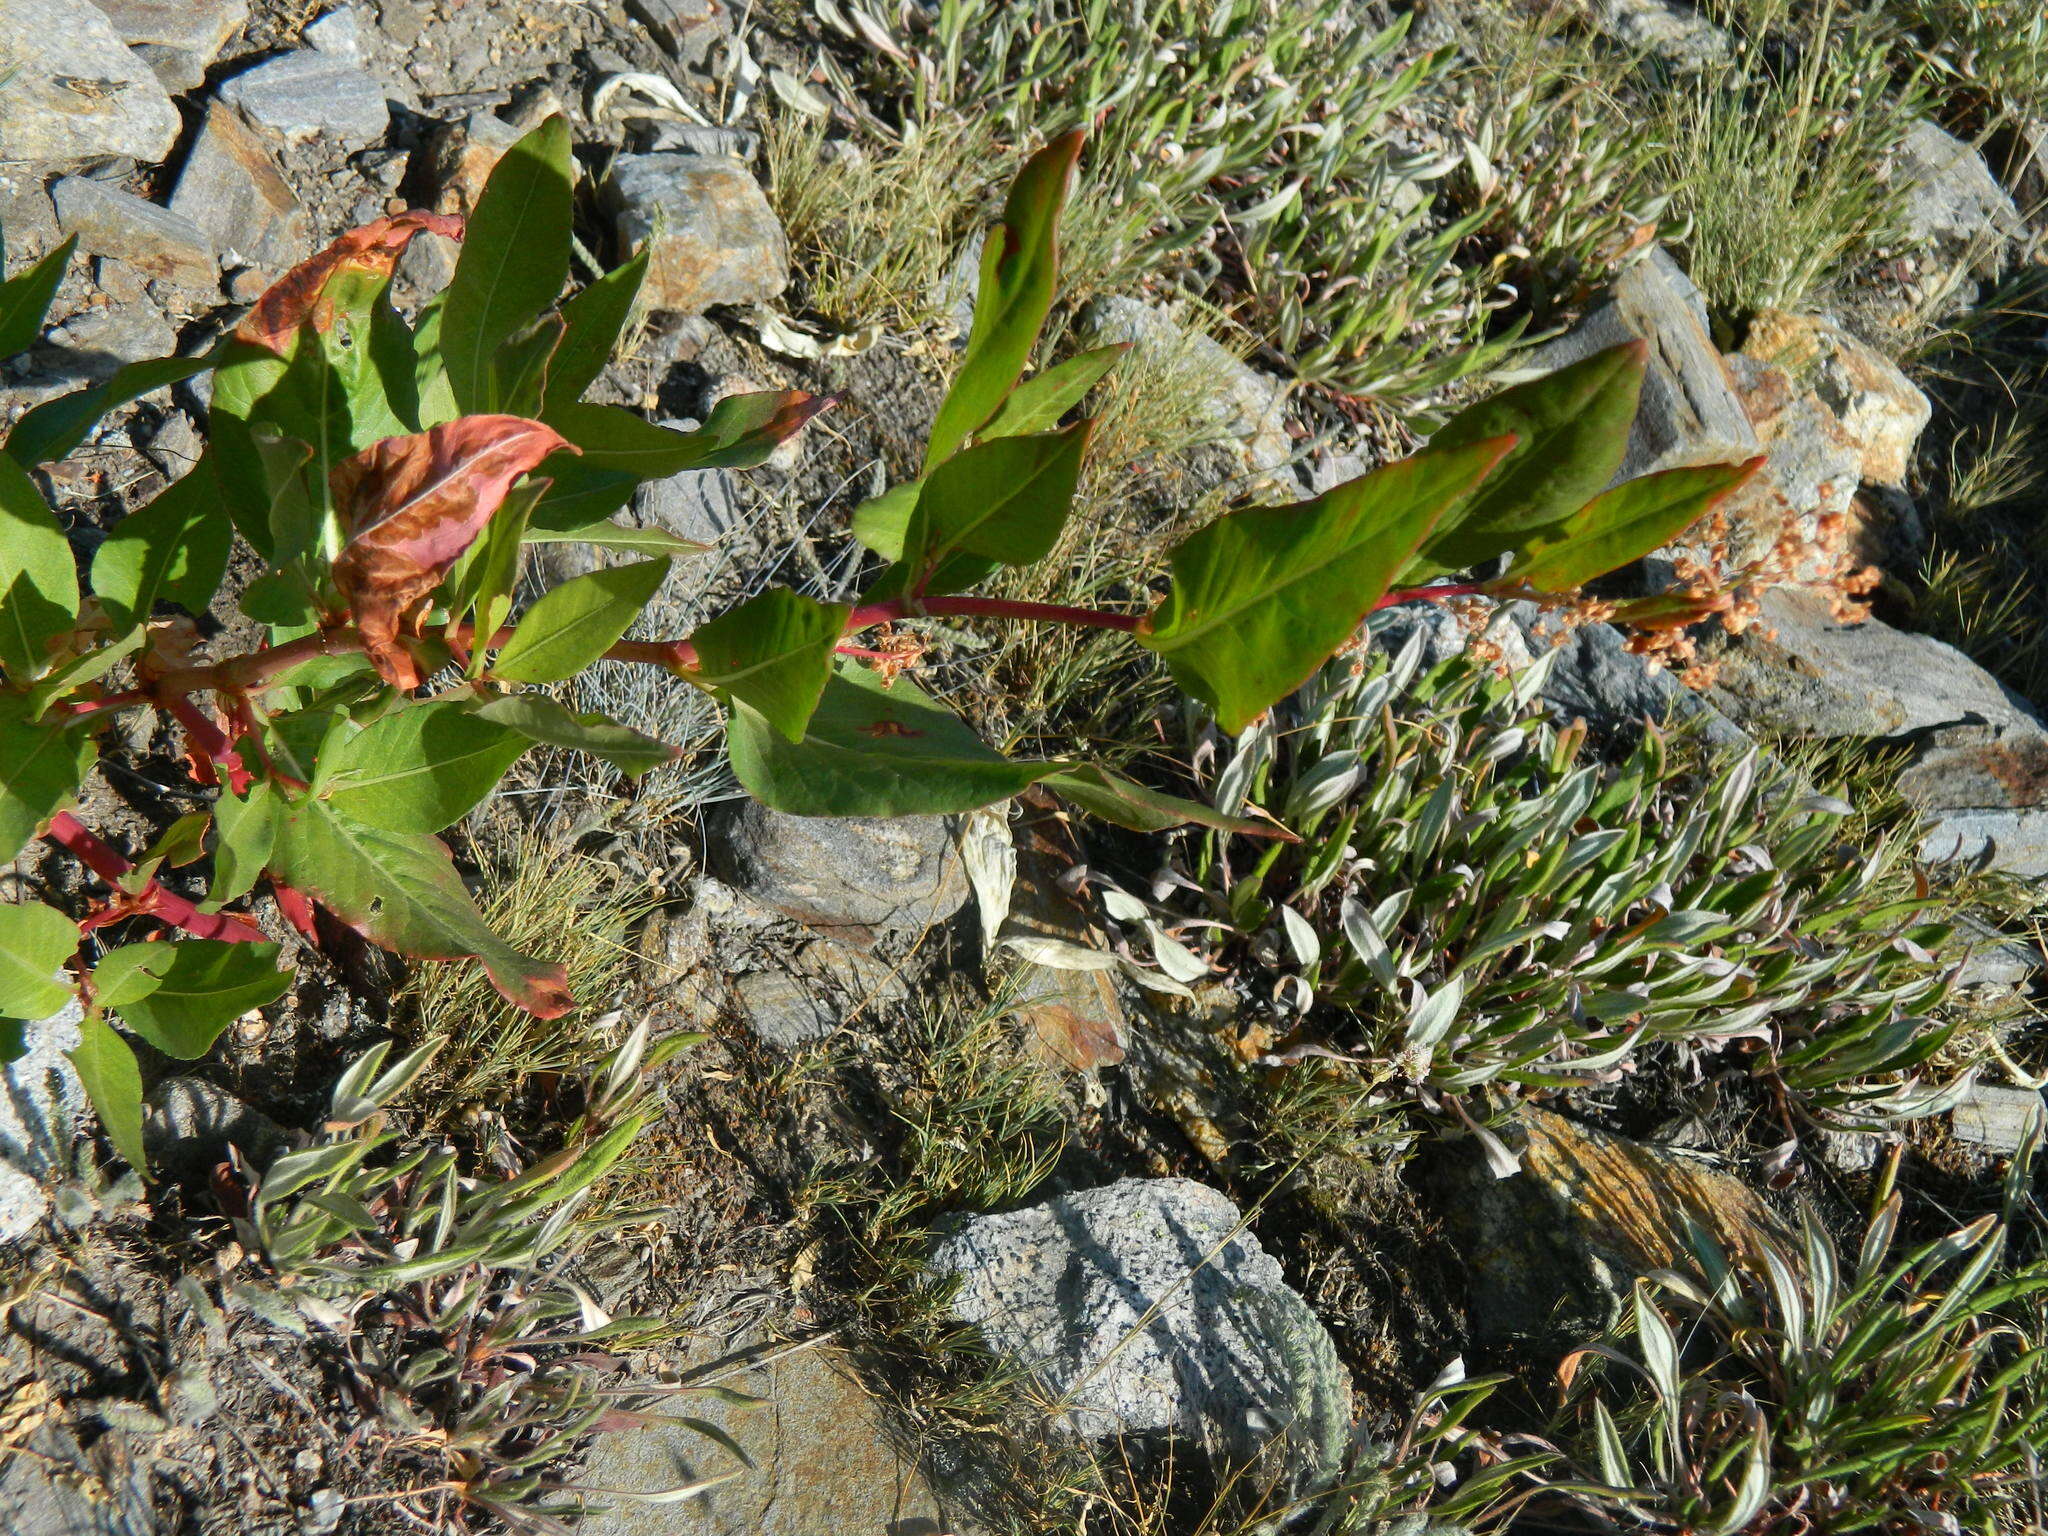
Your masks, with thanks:
<instances>
[{"instance_id":1,"label":"grey rock under the central leaves, left of the pale dry leaf","mask_svg":"<svg viewBox=\"0 0 2048 1536\"><path fill-rule=\"evenodd\" d=\"M713 821L709 854L733 889L860 948L915 940L971 895L940 815L805 817L741 801Z\"/></svg>"}]
</instances>

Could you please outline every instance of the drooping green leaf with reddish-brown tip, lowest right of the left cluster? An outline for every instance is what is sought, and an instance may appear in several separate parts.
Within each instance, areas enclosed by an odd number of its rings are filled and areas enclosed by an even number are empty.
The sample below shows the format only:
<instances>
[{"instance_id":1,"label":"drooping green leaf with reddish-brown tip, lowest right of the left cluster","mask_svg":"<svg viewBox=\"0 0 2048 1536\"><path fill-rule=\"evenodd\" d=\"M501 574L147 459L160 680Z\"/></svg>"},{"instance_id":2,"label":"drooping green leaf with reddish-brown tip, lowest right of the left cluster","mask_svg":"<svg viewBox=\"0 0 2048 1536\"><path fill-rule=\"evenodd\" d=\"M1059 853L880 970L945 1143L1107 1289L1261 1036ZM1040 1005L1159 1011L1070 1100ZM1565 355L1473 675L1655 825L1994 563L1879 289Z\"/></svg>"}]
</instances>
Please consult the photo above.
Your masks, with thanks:
<instances>
[{"instance_id":1,"label":"drooping green leaf with reddish-brown tip, lowest right of the left cluster","mask_svg":"<svg viewBox=\"0 0 2048 1536\"><path fill-rule=\"evenodd\" d=\"M373 944L418 961L479 958L492 985L528 1014L559 1018L573 1001L561 965L492 932L438 838L371 827L303 799L279 817L270 872Z\"/></svg>"}]
</instances>

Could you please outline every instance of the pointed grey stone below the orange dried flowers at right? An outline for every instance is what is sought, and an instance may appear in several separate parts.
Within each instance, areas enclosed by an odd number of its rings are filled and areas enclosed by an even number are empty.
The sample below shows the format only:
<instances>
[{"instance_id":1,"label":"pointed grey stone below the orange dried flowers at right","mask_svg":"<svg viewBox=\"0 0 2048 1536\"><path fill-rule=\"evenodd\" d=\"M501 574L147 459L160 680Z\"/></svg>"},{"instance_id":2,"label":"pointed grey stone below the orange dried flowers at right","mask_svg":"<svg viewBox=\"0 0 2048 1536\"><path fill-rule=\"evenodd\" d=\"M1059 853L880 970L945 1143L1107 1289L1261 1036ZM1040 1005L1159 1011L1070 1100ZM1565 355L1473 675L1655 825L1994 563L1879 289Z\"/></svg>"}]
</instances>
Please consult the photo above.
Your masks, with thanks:
<instances>
[{"instance_id":1,"label":"pointed grey stone below the orange dried flowers at right","mask_svg":"<svg viewBox=\"0 0 2048 1536\"><path fill-rule=\"evenodd\" d=\"M1708 698L1737 725L1817 737L2034 719L2023 698L1954 645L1878 618L1841 625L1827 598L1800 588L1763 594L1761 621L1720 657Z\"/></svg>"}]
</instances>

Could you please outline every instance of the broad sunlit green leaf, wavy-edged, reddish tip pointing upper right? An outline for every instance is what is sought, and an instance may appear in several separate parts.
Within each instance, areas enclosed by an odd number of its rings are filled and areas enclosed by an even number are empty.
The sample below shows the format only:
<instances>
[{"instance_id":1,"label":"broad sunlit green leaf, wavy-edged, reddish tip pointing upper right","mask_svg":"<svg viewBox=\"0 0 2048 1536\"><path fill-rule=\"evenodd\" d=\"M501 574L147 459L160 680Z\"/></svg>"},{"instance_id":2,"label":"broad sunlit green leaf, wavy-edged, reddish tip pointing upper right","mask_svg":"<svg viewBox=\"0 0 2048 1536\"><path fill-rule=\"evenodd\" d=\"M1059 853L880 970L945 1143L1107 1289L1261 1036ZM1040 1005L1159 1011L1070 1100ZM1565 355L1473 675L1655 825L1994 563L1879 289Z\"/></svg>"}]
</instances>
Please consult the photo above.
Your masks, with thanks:
<instances>
[{"instance_id":1,"label":"broad sunlit green leaf, wavy-edged, reddish tip pointing upper right","mask_svg":"<svg viewBox=\"0 0 2048 1536\"><path fill-rule=\"evenodd\" d=\"M1139 643L1237 735L1358 631L1444 508L1511 446L1425 449L1313 502L1219 518L1169 555L1174 590Z\"/></svg>"}]
</instances>

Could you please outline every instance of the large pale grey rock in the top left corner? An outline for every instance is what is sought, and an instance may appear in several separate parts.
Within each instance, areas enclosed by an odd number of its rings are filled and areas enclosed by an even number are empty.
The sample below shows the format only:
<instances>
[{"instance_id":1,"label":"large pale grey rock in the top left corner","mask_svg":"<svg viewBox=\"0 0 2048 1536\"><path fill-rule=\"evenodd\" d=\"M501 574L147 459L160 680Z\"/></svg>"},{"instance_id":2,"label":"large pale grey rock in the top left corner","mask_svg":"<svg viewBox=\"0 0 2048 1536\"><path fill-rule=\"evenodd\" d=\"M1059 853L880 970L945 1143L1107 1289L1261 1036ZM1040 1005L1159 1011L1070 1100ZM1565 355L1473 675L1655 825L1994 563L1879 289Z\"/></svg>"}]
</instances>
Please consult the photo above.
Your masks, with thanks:
<instances>
[{"instance_id":1,"label":"large pale grey rock in the top left corner","mask_svg":"<svg viewBox=\"0 0 2048 1536\"><path fill-rule=\"evenodd\" d=\"M0 160L162 160L178 109L92 0L0 0Z\"/></svg>"}]
</instances>

